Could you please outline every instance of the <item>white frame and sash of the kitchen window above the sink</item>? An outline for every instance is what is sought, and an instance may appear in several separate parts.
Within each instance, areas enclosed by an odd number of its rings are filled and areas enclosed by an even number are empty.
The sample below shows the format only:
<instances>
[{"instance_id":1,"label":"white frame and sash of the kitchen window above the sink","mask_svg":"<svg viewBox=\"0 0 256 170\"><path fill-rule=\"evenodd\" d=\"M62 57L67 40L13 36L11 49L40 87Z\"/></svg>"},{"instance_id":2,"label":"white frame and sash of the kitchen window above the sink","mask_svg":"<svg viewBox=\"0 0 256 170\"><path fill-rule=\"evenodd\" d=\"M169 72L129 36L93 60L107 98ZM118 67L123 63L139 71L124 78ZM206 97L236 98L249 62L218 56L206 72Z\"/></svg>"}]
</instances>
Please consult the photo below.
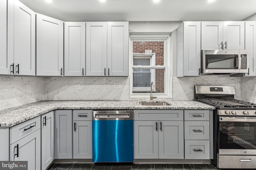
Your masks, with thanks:
<instances>
[{"instance_id":1,"label":"white frame and sash of the kitchen window above the sink","mask_svg":"<svg viewBox=\"0 0 256 170\"><path fill-rule=\"evenodd\" d=\"M163 66L133 66L133 41L164 41L164 65ZM133 93L133 69L149 68L164 69L164 93L154 93L159 98L172 98L172 72L171 66L171 44L170 35L130 35L129 39L129 77L130 77L130 98L146 99L150 98L150 93ZM142 53L143 54L143 53ZM144 54L145 55L145 54Z\"/></svg>"}]
</instances>

